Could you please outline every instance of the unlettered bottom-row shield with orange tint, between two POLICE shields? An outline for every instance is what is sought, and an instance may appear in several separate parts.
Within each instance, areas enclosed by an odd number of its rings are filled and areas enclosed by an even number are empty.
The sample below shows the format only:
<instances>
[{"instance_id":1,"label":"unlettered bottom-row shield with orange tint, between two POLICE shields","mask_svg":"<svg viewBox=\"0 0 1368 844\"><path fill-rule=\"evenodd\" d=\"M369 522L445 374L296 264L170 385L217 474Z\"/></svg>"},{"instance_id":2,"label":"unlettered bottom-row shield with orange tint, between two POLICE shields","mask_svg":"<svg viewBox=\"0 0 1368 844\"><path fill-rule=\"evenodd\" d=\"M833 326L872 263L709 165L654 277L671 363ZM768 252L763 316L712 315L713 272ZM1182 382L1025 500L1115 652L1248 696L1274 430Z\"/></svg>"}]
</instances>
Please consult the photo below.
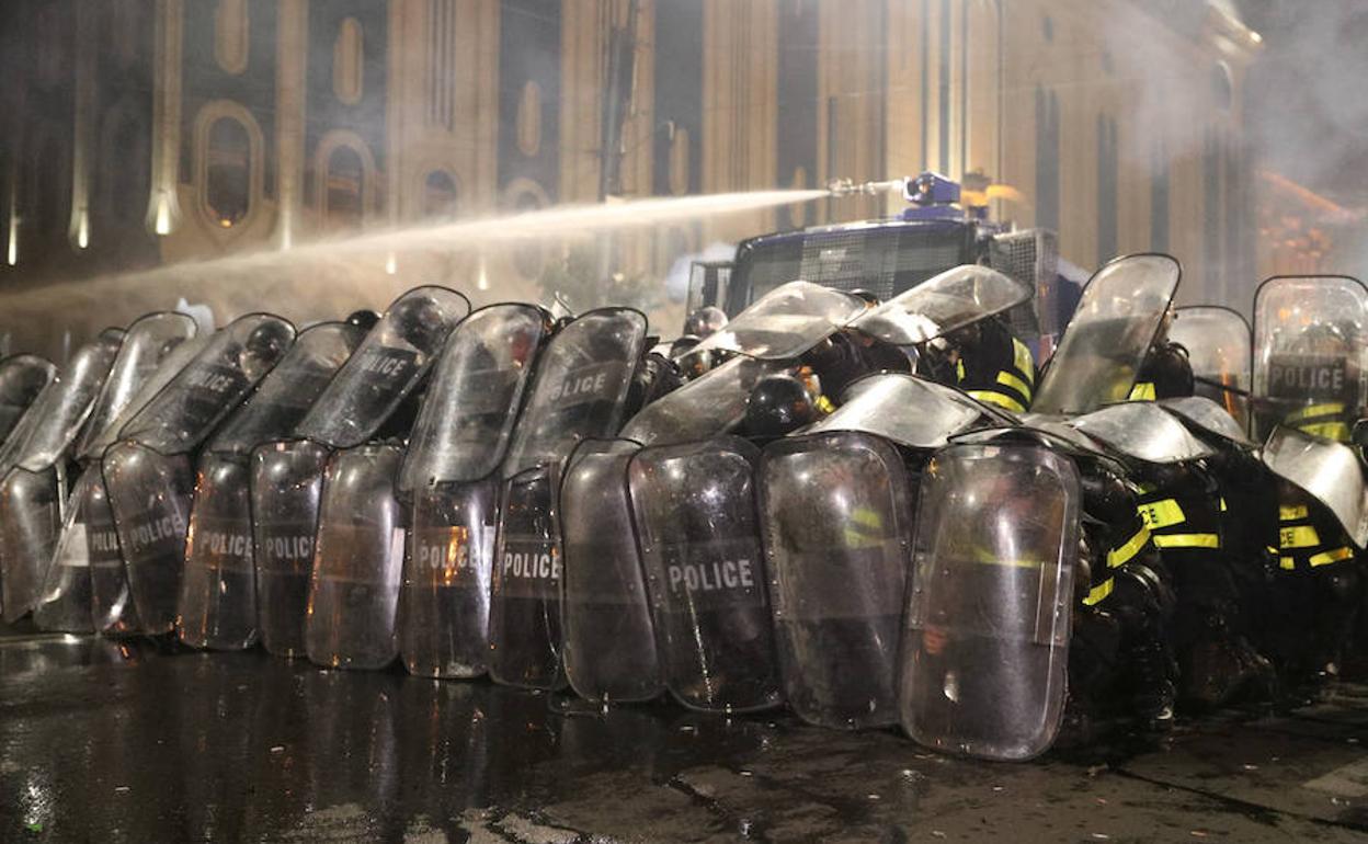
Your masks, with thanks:
<instances>
[{"instance_id":1,"label":"unlettered bottom-row shield with orange tint, between two POLICE shields","mask_svg":"<svg viewBox=\"0 0 1368 844\"><path fill-rule=\"evenodd\" d=\"M401 456L398 446L365 445L328 460L304 629L317 665L380 669L399 654L405 529L394 477Z\"/></svg>"}]
</instances>

